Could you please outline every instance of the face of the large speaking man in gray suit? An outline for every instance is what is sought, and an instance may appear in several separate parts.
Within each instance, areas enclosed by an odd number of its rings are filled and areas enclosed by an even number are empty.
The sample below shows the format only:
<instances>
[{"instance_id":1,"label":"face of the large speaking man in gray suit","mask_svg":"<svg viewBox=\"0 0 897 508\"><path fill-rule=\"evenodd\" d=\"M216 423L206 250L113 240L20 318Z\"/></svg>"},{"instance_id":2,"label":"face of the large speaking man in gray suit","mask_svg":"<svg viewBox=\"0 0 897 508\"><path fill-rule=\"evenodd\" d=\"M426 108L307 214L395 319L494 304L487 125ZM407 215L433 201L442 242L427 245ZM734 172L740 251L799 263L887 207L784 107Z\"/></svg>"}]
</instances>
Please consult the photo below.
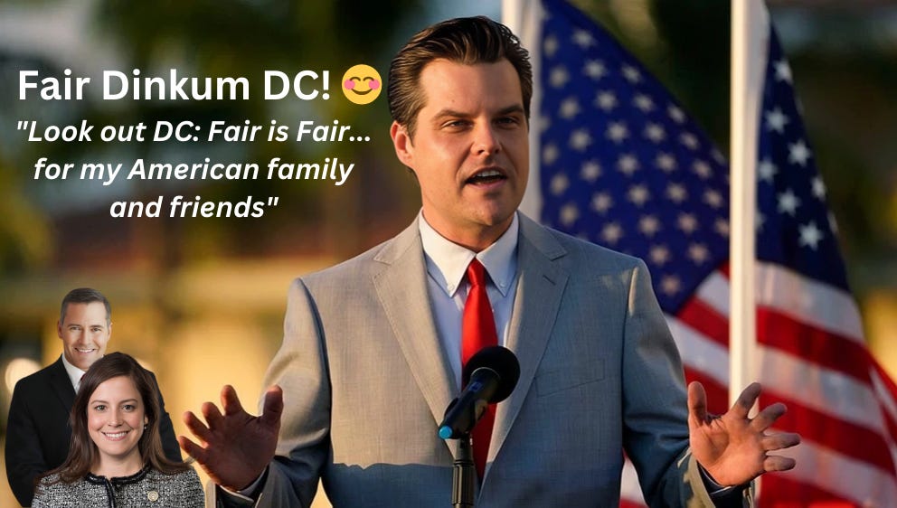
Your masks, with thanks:
<instances>
[{"instance_id":1,"label":"face of the large speaking man in gray suit","mask_svg":"<svg viewBox=\"0 0 897 508\"><path fill-rule=\"evenodd\" d=\"M423 215L468 249L485 249L511 224L529 174L523 94L507 60L428 63L414 137L393 122L392 141L420 183Z\"/></svg>"}]
</instances>

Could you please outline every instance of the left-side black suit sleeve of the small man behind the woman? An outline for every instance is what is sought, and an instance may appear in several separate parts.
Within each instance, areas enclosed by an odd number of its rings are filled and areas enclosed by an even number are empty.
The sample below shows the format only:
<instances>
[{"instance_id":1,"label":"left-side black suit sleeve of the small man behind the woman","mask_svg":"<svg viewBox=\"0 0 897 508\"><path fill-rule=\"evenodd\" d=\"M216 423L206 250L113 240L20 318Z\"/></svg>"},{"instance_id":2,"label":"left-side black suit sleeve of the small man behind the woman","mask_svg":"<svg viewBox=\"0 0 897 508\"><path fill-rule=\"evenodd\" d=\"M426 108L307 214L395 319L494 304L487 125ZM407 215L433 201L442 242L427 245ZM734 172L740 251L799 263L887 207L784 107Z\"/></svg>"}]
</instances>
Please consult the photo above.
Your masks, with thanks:
<instances>
[{"instance_id":1,"label":"left-side black suit sleeve of the small man behind the woman","mask_svg":"<svg viewBox=\"0 0 897 508\"><path fill-rule=\"evenodd\" d=\"M49 467L43 460L41 441L37 436L37 424L29 406L32 398L25 393L21 383L13 390L6 422L6 478L15 499L23 506L30 506L34 495L34 480Z\"/></svg>"}]
</instances>

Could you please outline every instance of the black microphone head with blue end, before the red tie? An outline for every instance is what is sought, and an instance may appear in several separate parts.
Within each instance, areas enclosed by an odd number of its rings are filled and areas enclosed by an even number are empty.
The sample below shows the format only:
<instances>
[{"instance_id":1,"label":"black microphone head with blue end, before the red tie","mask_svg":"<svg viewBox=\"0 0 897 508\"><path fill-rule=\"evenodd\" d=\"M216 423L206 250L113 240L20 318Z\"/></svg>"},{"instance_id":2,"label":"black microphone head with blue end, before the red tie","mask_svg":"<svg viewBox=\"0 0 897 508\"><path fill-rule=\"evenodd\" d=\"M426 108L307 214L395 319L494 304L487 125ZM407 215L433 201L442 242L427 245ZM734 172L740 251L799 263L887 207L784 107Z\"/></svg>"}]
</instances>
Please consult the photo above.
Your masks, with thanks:
<instances>
[{"instance_id":1,"label":"black microphone head with blue end, before the red tie","mask_svg":"<svg viewBox=\"0 0 897 508\"><path fill-rule=\"evenodd\" d=\"M458 439L473 430L489 404L507 399L520 379L520 363L511 350L500 345L474 354L461 372L464 391L446 408L439 437Z\"/></svg>"}]
</instances>

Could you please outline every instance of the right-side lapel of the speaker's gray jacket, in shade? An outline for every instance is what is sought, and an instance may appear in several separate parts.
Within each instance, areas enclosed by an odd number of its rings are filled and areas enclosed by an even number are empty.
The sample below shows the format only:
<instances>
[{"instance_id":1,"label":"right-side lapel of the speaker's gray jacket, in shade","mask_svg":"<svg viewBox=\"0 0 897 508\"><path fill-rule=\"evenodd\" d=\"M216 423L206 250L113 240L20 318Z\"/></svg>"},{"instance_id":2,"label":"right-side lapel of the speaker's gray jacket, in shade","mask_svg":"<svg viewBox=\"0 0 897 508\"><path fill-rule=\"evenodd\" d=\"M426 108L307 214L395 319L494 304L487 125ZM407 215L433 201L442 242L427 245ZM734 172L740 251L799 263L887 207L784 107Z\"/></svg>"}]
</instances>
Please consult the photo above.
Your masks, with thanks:
<instances>
[{"instance_id":1,"label":"right-side lapel of the speaker's gray jacket, in shade","mask_svg":"<svg viewBox=\"0 0 897 508\"><path fill-rule=\"evenodd\" d=\"M517 294L511 315L511 332L505 346L520 362L520 380L511 396L498 405L488 462L495 460L504 445L533 384L568 278L567 271L556 262L566 254L561 244L548 230L523 214L519 216Z\"/></svg>"}]
</instances>

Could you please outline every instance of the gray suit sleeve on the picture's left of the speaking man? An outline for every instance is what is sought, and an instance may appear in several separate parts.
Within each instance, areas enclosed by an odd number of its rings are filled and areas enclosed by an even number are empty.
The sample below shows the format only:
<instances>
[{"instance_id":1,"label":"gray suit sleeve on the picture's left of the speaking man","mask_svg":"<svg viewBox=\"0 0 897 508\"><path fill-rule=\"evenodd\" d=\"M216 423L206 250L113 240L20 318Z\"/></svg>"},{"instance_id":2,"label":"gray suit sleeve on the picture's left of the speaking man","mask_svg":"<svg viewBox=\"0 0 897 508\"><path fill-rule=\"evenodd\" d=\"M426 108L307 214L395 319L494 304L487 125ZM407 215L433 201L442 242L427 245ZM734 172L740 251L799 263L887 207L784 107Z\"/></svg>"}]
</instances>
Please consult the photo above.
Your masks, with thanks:
<instances>
[{"instance_id":1,"label":"gray suit sleeve on the picture's left of the speaking man","mask_svg":"<svg viewBox=\"0 0 897 508\"><path fill-rule=\"evenodd\" d=\"M264 386L283 389L277 455L269 467L259 506L310 506L330 451L330 382L326 348L315 302L301 279L293 282L284 337Z\"/></svg>"}]
</instances>

